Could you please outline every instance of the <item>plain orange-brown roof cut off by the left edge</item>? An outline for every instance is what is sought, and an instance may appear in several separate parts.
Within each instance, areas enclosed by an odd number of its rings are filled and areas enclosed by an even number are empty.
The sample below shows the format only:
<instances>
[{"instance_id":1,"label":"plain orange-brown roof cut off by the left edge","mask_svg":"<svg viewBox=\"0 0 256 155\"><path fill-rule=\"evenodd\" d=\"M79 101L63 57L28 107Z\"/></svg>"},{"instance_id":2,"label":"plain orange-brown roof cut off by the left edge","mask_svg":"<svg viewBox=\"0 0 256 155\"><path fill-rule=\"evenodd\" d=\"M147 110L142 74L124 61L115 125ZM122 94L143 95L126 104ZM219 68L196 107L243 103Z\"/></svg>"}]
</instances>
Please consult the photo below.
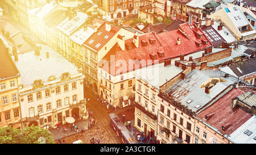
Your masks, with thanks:
<instances>
[{"instance_id":1,"label":"plain orange-brown roof cut off by the left edge","mask_svg":"<svg viewBox=\"0 0 256 155\"><path fill-rule=\"evenodd\" d=\"M5 48L5 45L3 45L2 40L0 40L0 57L0 78L17 76L19 71Z\"/></svg>"}]
</instances>

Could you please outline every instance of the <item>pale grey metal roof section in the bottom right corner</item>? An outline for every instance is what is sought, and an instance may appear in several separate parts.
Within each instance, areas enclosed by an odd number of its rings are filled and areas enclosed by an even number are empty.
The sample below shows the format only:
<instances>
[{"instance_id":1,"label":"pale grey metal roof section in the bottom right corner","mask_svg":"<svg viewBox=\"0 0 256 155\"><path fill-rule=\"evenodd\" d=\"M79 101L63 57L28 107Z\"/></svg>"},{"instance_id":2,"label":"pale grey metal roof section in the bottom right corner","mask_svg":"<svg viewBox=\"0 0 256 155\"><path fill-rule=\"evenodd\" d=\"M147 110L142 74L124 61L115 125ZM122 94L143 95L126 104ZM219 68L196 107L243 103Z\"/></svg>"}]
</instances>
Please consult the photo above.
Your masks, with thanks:
<instances>
[{"instance_id":1,"label":"pale grey metal roof section in the bottom right corner","mask_svg":"<svg viewBox=\"0 0 256 155\"><path fill-rule=\"evenodd\" d=\"M256 116L252 116L236 129L228 139L238 144L256 144Z\"/></svg>"}]
</instances>

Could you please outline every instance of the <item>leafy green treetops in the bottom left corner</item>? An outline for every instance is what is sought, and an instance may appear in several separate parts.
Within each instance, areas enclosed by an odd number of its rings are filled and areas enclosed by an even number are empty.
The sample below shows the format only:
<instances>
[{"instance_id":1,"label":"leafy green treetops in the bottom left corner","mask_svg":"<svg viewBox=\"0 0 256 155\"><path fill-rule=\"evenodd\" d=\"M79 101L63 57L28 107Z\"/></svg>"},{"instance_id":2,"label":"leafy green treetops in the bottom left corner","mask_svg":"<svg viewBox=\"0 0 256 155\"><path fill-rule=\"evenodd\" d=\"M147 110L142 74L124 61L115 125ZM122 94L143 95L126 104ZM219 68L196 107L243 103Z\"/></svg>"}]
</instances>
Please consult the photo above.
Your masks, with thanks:
<instances>
[{"instance_id":1,"label":"leafy green treetops in the bottom left corner","mask_svg":"<svg viewBox=\"0 0 256 155\"><path fill-rule=\"evenodd\" d=\"M46 144L54 144L52 133L47 129L26 127L23 129L12 128L11 126L0 128L0 144L39 144L39 137L46 138Z\"/></svg>"}]
</instances>

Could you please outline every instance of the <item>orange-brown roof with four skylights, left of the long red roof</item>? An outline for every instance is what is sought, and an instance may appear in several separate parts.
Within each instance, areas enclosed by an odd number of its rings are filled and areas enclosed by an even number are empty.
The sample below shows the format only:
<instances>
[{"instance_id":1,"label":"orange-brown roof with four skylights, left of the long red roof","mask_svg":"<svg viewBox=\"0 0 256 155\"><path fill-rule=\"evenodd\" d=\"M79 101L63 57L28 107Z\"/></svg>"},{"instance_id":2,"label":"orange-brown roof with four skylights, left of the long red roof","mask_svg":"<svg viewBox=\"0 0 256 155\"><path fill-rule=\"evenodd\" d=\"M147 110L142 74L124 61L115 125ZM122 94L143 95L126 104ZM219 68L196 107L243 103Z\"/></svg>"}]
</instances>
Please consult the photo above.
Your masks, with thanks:
<instances>
[{"instance_id":1,"label":"orange-brown roof with four skylights, left of the long red roof","mask_svg":"<svg viewBox=\"0 0 256 155\"><path fill-rule=\"evenodd\" d=\"M103 24L101 24L101 26L100 27L98 27L98 30L97 30L97 32L94 32L93 33L93 35L92 36L90 36L86 41L85 41L85 45L87 45L88 47L90 47L90 48L92 48L92 49L94 49L94 50L96 50L96 51L100 51L100 49L102 48L102 47L104 47L104 45L106 44L106 43L108 43L108 41L110 40L110 39L112 39L112 37L121 29L121 28L119 28L119 27L117 27L117 26L113 26L113 25L111 25L111 30L108 32L108 31L106 31L106 24L105 24L106 22L104 22ZM102 34L101 35L98 35L98 32L102 32ZM109 37L108 37L108 39L105 39L104 37L106 36L106 35L108 35ZM90 42L90 40L94 40L93 41L93 43L92 44L90 44L89 42ZM96 47L96 45L98 44L98 43L100 43L101 45L100 45L100 47Z\"/></svg>"}]
</instances>

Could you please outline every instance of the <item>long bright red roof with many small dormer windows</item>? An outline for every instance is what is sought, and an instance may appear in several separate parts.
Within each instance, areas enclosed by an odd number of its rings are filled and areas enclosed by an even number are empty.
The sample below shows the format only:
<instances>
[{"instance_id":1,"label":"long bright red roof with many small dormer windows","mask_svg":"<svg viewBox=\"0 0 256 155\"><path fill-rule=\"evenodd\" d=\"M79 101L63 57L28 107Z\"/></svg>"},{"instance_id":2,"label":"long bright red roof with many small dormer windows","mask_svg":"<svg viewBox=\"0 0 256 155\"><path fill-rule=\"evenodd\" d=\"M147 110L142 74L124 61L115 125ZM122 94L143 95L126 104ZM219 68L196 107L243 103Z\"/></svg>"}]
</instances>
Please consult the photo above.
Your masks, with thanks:
<instances>
[{"instance_id":1,"label":"long bright red roof with many small dormer windows","mask_svg":"<svg viewBox=\"0 0 256 155\"><path fill-rule=\"evenodd\" d=\"M182 32L179 30L173 30L169 32L160 33L158 35L155 35L154 32L147 33L145 35L139 36L139 47L136 48L133 43L133 38L125 40L125 44L131 44L131 49L127 49L125 47L125 50L122 51L122 49L119 47L118 44L115 44L112 49L110 49L109 53L105 55L102 60L107 60L110 62L110 56L115 56L115 62L118 60L124 60L127 63L126 70L123 70L124 72L128 72L129 70L134 70L134 68L129 69L128 64L129 60L152 60L152 57L150 54L155 54L156 58L155 60L159 60L159 62L163 62L166 58L175 58L179 57L180 55L188 55L190 53L194 53L197 51L202 51L206 47L212 46L212 43L208 40L208 38L203 34L203 37L199 38L195 32L192 30L198 29L196 26L192 23L192 25L195 27L191 29L188 24L181 24L180 28L185 31L187 36L185 36ZM199 29L198 31L201 31ZM202 31L201 31L202 32ZM177 38L180 38L180 44L177 45ZM152 44L150 39L155 40L155 44ZM202 39L207 39L209 41L208 44L202 43L201 47L199 47L195 41L201 41ZM142 45L142 40L147 41L147 45ZM164 53L163 57L160 57L159 53ZM101 64L101 62L99 63ZM110 63L109 63L110 64ZM151 65L151 64L148 64ZM104 66L100 66L102 69L104 69ZM115 66L115 73L109 73L112 75L119 74L121 71L119 69L119 66ZM107 71L107 70L106 70Z\"/></svg>"}]
</instances>

